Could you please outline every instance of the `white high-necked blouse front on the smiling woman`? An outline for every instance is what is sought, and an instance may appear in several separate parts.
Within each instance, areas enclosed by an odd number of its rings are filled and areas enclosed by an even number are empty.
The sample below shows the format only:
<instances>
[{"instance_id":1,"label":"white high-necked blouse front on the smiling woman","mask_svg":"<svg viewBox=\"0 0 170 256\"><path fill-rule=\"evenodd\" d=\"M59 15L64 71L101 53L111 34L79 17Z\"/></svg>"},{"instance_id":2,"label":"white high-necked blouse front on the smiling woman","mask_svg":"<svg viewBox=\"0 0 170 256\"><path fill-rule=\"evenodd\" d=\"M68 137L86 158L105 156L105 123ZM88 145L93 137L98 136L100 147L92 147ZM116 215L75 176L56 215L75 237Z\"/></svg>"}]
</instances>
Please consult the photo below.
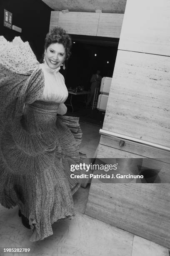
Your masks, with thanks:
<instances>
[{"instance_id":1,"label":"white high-necked blouse front on the smiling woman","mask_svg":"<svg viewBox=\"0 0 170 256\"><path fill-rule=\"evenodd\" d=\"M67 112L67 107L63 102L68 97L68 91L64 77L59 72L60 67L50 69L46 62L40 64L40 67L44 73L45 87L42 97L39 100L60 103L58 113L64 115Z\"/></svg>"}]
</instances>

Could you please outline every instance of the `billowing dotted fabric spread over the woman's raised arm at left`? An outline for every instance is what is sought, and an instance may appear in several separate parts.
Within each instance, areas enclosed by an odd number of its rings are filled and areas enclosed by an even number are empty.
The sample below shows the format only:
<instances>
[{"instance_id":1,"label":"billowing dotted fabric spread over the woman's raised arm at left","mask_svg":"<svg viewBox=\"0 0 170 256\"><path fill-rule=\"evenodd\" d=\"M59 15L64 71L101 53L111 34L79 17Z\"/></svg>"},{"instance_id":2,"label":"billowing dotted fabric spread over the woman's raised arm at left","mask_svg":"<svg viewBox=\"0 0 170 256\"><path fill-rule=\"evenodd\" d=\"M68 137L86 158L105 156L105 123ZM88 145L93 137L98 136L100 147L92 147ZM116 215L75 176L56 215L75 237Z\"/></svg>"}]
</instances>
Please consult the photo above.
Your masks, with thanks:
<instances>
[{"instance_id":1,"label":"billowing dotted fabric spread over the woman's raised arm at left","mask_svg":"<svg viewBox=\"0 0 170 256\"><path fill-rule=\"evenodd\" d=\"M0 36L0 127L42 95L44 76L28 42Z\"/></svg>"}]
</instances>

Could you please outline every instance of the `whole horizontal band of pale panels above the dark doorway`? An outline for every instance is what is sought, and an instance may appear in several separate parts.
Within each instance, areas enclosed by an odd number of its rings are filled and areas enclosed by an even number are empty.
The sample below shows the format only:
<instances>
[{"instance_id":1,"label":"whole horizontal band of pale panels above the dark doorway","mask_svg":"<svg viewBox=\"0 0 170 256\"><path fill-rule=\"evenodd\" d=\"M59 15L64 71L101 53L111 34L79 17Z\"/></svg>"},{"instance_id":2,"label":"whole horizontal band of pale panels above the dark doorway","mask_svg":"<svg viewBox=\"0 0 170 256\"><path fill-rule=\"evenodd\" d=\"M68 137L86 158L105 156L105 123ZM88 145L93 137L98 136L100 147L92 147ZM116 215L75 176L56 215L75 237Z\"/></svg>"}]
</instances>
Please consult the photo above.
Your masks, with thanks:
<instances>
[{"instance_id":1,"label":"whole horizontal band of pale panels above the dark doorway","mask_svg":"<svg viewBox=\"0 0 170 256\"><path fill-rule=\"evenodd\" d=\"M64 28L69 34L120 38L123 14L51 12L50 29Z\"/></svg>"}]
</instances>

